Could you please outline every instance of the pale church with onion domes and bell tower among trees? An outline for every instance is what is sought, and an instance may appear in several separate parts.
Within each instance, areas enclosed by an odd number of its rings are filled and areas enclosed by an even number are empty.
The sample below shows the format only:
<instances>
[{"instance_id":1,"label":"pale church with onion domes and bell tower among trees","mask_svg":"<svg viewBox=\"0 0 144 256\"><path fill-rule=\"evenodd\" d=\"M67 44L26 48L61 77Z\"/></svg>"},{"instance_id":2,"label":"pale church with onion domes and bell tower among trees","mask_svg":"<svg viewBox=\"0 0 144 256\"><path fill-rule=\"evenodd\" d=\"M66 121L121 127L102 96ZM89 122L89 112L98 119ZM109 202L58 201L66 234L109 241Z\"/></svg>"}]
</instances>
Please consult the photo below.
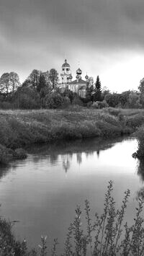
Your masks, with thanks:
<instances>
[{"instance_id":1,"label":"pale church with onion domes and bell tower among trees","mask_svg":"<svg viewBox=\"0 0 144 256\"><path fill-rule=\"evenodd\" d=\"M76 92L79 97L85 98L86 84L88 83L89 76L86 74L86 80L81 79L82 71L78 68L76 71L76 79L72 81L73 76L71 75L71 66L67 63L67 60L65 60L61 68L59 87L70 89L72 92Z\"/></svg>"}]
</instances>

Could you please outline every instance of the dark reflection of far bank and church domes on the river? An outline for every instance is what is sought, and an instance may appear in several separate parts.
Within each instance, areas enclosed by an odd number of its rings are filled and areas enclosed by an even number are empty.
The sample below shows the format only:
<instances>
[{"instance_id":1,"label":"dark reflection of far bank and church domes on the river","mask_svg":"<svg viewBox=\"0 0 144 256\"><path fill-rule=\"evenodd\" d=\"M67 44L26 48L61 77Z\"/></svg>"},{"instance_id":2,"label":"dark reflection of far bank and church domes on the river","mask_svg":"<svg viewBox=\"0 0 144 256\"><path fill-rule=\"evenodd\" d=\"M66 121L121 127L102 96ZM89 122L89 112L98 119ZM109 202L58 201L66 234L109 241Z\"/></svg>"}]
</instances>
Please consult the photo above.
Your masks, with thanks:
<instances>
[{"instance_id":1,"label":"dark reflection of far bank and church domes on the river","mask_svg":"<svg viewBox=\"0 0 144 256\"><path fill-rule=\"evenodd\" d=\"M124 138L118 138L117 142L123 141ZM76 155L76 162L80 166L82 164L83 156L86 159L94 157L96 152L97 159L99 159L100 151L105 151L112 148L115 143L115 139L104 140L102 138L91 138L85 140L73 141L56 141L53 144L42 144L40 146L32 145L32 147L26 148L29 154L32 154L32 161L37 164L47 160L48 165L57 165L58 162L62 162L63 170L67 173L71 168L71 162Z\"/></svg>"}]
</instances>

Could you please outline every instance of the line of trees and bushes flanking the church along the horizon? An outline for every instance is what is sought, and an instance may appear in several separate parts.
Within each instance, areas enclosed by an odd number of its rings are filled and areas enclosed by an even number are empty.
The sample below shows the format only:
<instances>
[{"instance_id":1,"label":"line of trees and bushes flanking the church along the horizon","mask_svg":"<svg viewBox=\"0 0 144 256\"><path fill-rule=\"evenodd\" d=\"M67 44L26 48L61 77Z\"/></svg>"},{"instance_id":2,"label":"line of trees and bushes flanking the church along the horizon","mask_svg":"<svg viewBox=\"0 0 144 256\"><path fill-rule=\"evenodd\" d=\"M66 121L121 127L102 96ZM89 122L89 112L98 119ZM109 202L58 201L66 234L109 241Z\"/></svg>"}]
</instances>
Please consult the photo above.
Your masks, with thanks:
<instances>
[{"instance_id":1,"label":"line of trees and bushes flanking the church along the horizon","mask_svg":"<svg viewBox=\"0 0 144 256\"><path fill-rule=\"evenodd\" d=\"M46 72L34 69L22 84L17 73L4 73L0 78L0 108L38 109L68 107L68 105L94 108L144 107L144 78L140 81L138 91L128 90L117 93L110 92L106 87L102 88L99 76L96 77L96 82L93 77L89 77L85 98L79 97L67 87L60 89L58 81L58 71L55 69Z\"/></svg>"}]
</instances>

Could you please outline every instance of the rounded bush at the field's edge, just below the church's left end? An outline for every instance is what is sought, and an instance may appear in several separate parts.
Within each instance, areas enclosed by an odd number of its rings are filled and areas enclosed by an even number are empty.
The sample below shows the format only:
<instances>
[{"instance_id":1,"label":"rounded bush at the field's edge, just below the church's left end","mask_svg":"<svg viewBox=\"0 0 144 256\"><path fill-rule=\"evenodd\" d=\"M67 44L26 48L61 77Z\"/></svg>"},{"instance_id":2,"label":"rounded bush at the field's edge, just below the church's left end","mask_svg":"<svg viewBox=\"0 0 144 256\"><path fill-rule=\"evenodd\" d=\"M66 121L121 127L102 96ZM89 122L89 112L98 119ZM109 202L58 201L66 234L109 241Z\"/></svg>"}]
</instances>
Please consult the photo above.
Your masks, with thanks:
<instances>
[{"instance_id":1,"label":"rounded bush at the field's edge, just below the church's left end","mask_svg":"<svg viewBox=\"0 0 144 256\"><path fill-rule=\"evenodd\" d=\"M61 107L62 105L63 105L63 97L57 92L48 94L45 97L45 107L47 108L55 109L55 108Z\"/></svg>"}]
</instances>

